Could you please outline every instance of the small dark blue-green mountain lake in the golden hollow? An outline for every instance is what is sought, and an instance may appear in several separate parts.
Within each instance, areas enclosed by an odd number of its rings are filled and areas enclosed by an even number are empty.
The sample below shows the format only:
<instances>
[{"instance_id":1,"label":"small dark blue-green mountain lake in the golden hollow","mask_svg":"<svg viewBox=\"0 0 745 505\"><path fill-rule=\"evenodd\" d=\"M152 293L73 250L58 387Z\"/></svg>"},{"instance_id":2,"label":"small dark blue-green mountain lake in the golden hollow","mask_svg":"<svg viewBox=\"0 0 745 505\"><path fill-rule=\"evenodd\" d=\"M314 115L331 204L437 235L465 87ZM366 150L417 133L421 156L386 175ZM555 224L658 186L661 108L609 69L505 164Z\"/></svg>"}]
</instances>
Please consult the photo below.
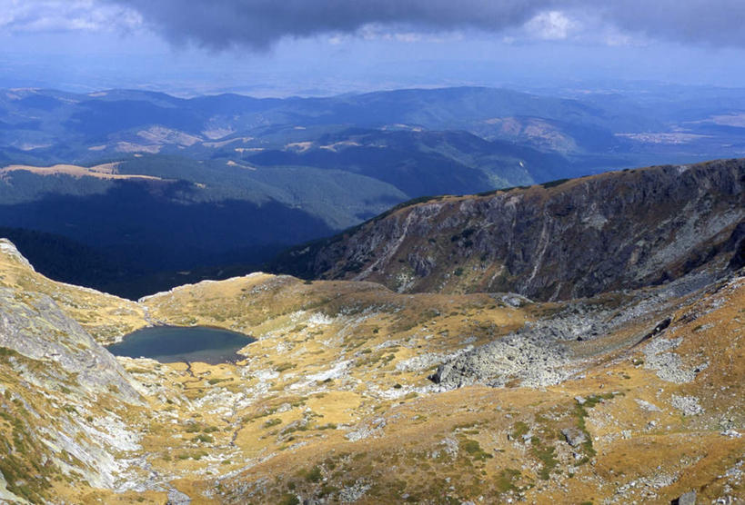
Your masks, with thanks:
<instances>
[{"instance_id":1,"label":"small dark blue-green mountain lake in the golden hollow","mask_svg":"<svg viewBox=\"0 0 745 505\"><path fill-rule=\"evenodd\" d=\"M242 333L205 326L154 326L126 335L106 349L115 356L151 358L164 363L201 361L209 364L239 361L237 350L256 339Z\"/></svg>"}]
</instances>

